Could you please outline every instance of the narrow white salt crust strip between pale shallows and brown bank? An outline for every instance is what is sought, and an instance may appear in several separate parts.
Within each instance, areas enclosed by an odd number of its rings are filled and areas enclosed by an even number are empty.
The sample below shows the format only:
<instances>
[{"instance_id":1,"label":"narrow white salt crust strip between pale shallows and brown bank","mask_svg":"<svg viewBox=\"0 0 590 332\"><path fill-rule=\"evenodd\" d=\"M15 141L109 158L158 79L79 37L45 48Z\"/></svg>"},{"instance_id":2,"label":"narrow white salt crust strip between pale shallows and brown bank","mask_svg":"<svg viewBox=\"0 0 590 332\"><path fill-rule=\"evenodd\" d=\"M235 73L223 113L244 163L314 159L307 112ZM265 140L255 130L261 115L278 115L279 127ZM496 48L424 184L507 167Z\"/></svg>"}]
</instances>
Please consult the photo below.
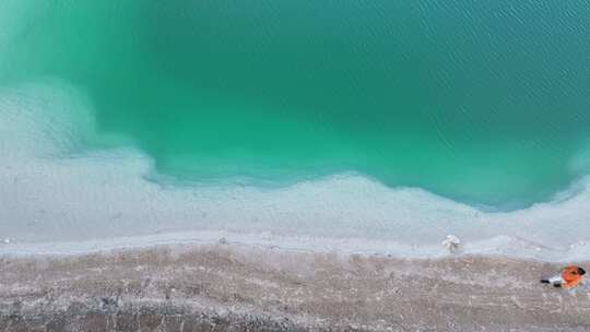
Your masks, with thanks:
<instances>
[{"instance_id":1,"label":"narrow white salt crust strip between pale shallows and brown bank","mask_svg":"<svg viewBox=\"0 0 590 332\"><path fill-rule=\"evenodd\" d=\"M80 256L118 250L145 250L154 247L174 248L217 244L302 253L332 252L398 259L445 259L461 256L477 256L557 263L581 261L590 258L590 245L587 245L585 241L579 241L567 248L551 248L515 236L498 236L479 241L468 241L467 244L462 244L459 253L451 253L441 242L418 245L394 240L283 236L270 232L239 233L226 230L169 232L55 242L14 242L7 238L0 244L0 257Z\"/></svg>"}]
</instances>

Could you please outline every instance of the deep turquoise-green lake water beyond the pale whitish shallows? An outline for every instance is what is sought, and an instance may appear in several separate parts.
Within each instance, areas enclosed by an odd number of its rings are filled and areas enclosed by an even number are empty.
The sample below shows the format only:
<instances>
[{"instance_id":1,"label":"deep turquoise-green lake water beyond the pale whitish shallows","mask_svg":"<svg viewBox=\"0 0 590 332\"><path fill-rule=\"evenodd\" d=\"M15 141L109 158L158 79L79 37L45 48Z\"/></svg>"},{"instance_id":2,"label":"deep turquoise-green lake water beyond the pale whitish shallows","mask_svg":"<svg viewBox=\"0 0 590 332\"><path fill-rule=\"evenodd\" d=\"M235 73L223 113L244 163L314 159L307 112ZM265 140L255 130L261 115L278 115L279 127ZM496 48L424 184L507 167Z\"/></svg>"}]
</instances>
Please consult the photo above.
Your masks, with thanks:
<instances>
[{"instance_id":1,"label":"deep turquoise-green lake water beyond the pale whitish shallows","mask_svg":"<svg viewBox=\"0 0 590 332\"><path fill-rule=\"evenodd\" d=\"M23 3L0 0L0 84L72 84L103 133L84 149L162 175L352 170L515 209L588 173L587 1Z\"/></svg>"}]
</instances>

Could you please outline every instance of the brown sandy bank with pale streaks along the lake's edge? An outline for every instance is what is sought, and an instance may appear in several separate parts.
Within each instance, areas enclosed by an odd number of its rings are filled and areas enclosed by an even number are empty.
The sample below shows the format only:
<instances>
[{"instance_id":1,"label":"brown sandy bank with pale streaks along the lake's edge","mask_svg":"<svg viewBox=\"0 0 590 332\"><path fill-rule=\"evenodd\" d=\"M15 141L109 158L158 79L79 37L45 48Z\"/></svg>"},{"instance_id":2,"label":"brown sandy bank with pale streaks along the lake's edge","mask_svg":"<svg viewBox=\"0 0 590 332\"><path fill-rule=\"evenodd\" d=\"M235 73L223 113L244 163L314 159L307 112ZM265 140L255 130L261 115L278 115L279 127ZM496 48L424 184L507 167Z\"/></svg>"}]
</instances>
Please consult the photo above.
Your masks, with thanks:
<instances>
[{"instance_id":1,"label":"brown sandy bank with pale streaks along the lake's edge","mask_svg":"<svg viewBox=\"0 0 590 332\"><path fill-rule=\"evenodd\" d=\"M238 245L0 258L0 331L590 331L558 265Z\"/></svg>"}]
</instances>

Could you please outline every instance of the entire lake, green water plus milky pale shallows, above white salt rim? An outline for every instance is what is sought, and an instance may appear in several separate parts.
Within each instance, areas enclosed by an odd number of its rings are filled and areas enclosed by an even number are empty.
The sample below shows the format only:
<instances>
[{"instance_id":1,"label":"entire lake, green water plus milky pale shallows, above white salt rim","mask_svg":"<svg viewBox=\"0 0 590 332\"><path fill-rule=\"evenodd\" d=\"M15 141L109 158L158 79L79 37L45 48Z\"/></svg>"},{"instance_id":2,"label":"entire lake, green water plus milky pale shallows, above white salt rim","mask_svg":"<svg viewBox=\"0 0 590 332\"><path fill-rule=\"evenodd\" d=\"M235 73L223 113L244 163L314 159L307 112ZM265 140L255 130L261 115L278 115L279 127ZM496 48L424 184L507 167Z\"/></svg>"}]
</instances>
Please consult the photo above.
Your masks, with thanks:
<instances>
[{"instance_id":1,"label":"entire lake, green water plus milky pale shallows, above white salt rim","mask_svg":"<svg viewBox=\"0 0 590 332\"><path fill-rule=\"evenodd\" d=\"M0 2L0 235L590 239L590 7Z\"/></svg>"}]
</instances>

